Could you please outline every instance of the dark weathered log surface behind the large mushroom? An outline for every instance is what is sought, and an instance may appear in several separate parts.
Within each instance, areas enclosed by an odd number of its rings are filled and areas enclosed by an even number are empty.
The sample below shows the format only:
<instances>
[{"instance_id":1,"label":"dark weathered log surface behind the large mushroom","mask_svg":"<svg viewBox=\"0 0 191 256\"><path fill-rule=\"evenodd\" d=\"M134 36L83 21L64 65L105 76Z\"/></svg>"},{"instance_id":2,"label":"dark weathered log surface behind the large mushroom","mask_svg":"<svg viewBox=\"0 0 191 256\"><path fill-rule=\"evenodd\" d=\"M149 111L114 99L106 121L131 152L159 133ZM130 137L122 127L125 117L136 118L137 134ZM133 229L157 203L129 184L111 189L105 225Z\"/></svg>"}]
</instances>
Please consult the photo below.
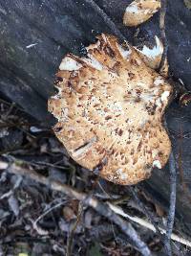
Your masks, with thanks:
<instances>
[{"instance_id":1,"label":"dark weathered log surface behind the large mushroom","mask_svg":"<svg viewBox=\"0 0 191 256\"><path fill-rule=\"evenodd\" d=\"M4 0L0 1L0 92L21 105L44 125L53 124L47 100L53 95L54 74L68 52L79 54L102 32L117 30L132 44L159 36L159 13L136 29L122 24L127 0ZM191 12L183 1L168 1L166 33L171 73L191 90ZM96 5L102 10L96 8ZM110 17L115 26L111 26ZM116 29L116 30L115 30ZM172 104L166 114L178 163L177 218L191 230L191 107ZM180 170L181 169L181 170ZM181 171L181 172L180 172ZM182 173L183 172L183 173ZM186 186L185 186L186 184ZM168 207L169 171L155 170L142 187ZM186 187L186 188L185 188Z\"/></svg>"}]
</instances>

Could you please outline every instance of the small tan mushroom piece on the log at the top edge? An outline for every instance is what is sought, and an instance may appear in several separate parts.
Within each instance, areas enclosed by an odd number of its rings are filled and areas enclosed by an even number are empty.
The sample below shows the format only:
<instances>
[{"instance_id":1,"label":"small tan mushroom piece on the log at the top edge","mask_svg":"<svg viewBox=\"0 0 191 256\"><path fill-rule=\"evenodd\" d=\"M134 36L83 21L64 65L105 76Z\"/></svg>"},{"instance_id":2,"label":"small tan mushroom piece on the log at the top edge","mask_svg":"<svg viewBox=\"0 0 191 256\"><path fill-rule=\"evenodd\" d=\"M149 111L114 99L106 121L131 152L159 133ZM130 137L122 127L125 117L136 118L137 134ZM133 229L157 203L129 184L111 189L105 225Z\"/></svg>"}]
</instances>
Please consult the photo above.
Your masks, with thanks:
<instances>
[{"instance_id":1,"label":"small tan mushroom piece on the log at the top edge","mask_svg":"<svg viewBox=\"0 0 191 256\"><path fill-rule=\"evenodd\" d=\"M125 10L123 24L128 27L138 26L160 9L160 0L135 0Z\"/></svg>"}]
</instances>

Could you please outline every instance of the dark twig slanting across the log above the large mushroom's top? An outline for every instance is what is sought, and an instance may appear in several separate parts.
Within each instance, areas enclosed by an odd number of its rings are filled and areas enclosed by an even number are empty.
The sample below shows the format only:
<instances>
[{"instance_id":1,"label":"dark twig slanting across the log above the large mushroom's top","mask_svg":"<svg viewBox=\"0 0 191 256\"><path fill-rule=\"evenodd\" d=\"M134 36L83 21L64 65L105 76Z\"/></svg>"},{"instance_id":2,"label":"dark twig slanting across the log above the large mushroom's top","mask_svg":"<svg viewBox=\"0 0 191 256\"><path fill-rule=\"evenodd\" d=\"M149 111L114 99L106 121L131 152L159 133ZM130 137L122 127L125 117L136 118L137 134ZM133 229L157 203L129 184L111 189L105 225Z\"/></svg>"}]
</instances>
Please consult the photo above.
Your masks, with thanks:
<instances>
[{"instance_id":1,"label":"dark twig slanting across the log above the large mushroom's top","mask_svg":"<svg viewBox=\"0 0 191 256\"><path fill-rule=\"evenodd\" d=\"M102 17L104 22L111 29L112 33L117 35L117 37L120 38L121 40L123 41L126 40L125 36L122 35L122 33L117 29L116 24L111 20L111 18L105 12L103 12L103 10L100 9L100 7L96 4L94 0L84 0L84 2L86 2L88 5L91 5L91 7L96 11L96 13L98 13L98 15Z\"/></svg>"}]
</instances>

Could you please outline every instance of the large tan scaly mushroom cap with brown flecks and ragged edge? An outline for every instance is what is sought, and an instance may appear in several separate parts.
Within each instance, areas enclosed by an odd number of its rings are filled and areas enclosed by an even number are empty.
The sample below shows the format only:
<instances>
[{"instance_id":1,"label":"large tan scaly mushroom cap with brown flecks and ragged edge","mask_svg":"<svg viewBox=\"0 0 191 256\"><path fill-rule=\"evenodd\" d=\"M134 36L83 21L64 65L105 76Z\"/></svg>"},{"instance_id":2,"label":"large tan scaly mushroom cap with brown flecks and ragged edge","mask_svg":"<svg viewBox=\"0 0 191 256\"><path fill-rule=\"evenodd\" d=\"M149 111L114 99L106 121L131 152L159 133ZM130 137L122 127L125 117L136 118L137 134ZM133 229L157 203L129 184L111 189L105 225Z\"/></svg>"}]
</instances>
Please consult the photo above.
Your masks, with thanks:
<instances>
[{"instance_id":1,"label":"large tan scaly mushroom cap with brown flecks and ragged edge","mask_svg":"<svg viewBox=\"0 0 191 256\"><path fill-rule=\"evenodd\" d=\"M49 100L57 138L81 166L114 183L136 184L168 160L162 115L172 86L113 35L99 35L87 57L68 54Z\"/></svg>"}]
</instances>

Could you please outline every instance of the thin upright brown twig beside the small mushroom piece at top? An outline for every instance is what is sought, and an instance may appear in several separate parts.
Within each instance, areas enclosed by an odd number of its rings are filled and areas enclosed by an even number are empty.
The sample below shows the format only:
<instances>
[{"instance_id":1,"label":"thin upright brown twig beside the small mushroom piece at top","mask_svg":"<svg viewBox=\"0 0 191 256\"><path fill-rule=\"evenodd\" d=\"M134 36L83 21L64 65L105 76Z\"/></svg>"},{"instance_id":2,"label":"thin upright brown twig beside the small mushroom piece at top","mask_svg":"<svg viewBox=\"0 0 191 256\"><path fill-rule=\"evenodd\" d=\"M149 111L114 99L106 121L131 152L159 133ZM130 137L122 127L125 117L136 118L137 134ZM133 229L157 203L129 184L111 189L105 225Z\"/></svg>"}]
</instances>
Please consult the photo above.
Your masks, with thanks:
<instances>
[{"instance_id":1,"label":"thin upright brown twig beside the small mushroom piece at top","mask_svg":"<svg viewBox=\"0 0 191 256\"><path fill-rule=\"evenodd\" d=\"M159 29L160 29L160 35L161 35L164 50L159 63L159 70L163 69L165 65L165 60L167 59L167 52L168 52L168 42L167 42L166 32L165 32L166 10L167 10L167 0L161 0L161 9L159 12Z\"/></svg>"}]
</instances>

